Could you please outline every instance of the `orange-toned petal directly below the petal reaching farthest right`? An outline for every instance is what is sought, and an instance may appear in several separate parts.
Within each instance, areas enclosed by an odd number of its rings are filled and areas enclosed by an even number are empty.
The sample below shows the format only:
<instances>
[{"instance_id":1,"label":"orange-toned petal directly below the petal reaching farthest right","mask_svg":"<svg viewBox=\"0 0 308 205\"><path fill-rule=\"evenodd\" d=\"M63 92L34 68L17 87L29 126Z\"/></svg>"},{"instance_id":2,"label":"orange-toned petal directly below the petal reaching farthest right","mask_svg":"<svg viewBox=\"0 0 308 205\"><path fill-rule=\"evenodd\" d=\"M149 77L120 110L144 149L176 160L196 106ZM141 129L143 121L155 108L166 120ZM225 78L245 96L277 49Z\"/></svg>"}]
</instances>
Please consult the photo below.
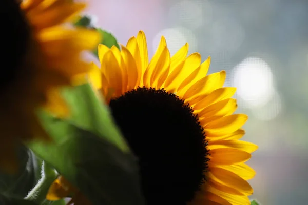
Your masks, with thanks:
<instances>
[{"instance_id":1,"label":"orange-toned petal directly below the petal reaching farthest right","mask_svg":"<svg viewBox=\"0 0 308 205\"><path fill-rule=\"evenodd\" d=\"M231 148L209 150L209 153L209 163L215 163L218 165L233 165L236 163L243 163L252 157L252 155L248 152Z\"/></svg>"}]
</instances>

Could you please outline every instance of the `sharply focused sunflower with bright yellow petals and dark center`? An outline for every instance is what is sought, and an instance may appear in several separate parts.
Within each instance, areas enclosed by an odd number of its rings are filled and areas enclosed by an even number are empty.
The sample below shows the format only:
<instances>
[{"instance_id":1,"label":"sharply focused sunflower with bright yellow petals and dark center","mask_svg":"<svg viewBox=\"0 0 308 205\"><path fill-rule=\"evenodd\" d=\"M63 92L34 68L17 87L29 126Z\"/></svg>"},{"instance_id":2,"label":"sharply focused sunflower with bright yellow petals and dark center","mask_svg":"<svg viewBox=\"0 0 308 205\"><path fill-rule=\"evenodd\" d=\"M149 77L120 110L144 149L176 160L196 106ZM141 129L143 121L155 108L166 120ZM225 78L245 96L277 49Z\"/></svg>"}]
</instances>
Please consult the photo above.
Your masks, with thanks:
<instances>
[{"instance_id":1,"label":"sharply focused sunflower with bright yellow petals and dark center","mask_svg":"<svg viewBox=\"0 0 308 205\"><path fill-rule=\"evenodd\" d=\"M247 115L233 114L225 71L207 75L210 57L187 56L188 44L170 57L163 36L149 62L142 31L98 53L89 78L139 158L146 204L250 204L245 162L257 146L239 140Z\"/></svg>"}]
</instances>

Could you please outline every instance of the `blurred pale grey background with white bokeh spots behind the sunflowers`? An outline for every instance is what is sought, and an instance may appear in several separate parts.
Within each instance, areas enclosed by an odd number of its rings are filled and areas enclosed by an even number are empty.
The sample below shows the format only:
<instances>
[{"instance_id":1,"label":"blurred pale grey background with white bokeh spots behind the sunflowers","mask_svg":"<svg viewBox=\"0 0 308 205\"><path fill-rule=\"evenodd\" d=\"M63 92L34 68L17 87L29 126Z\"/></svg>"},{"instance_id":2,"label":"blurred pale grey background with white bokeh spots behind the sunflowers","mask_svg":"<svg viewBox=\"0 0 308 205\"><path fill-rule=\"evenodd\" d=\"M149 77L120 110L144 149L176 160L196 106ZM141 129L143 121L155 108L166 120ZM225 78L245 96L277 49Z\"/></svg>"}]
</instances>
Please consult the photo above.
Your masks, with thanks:
<instances>
[{"instance_id":1,"label":"blurred pale grey background with white bokeh spots behind the sunflowers","mask_svg":"<svg viewBox=\"0 0 308 205\"><path fill-rule=\"evenodd\" d=\"M160 36L171 55L211 56L210 73L227 71L249 115L245 140L259 145L248 162L261 204L308 201L308 1L91 0L87 13L119 42L143 30L152 56Z\"/></svg>"}]
</instances>

